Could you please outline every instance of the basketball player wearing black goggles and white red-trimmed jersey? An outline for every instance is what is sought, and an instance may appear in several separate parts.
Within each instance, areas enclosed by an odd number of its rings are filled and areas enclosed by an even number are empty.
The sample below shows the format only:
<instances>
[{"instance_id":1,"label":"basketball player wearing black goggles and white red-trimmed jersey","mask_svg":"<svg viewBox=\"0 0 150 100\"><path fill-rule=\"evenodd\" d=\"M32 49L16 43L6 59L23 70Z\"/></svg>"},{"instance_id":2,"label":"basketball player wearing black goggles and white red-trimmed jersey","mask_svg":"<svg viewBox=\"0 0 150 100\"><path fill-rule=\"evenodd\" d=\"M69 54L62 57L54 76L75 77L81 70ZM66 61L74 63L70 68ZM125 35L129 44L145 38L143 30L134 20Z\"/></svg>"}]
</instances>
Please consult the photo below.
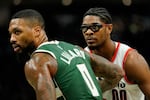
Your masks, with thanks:
<instances>
[{"instance_id":1,"label":"basketball player wearing black goggles and white red-trimmed jersey","mask_svg":"<svg viewBox=\"0 0 150 100\"><path fill-rule=\"evenodd\" d=\"M90 8L83 15L81 31L85 50L101 55L124 69L125 76L108 91L102 84L104 100L150 100L150 70L144 57L126 44L113 41L112 18L105 8Z\"/></svg>"}]
</instances>

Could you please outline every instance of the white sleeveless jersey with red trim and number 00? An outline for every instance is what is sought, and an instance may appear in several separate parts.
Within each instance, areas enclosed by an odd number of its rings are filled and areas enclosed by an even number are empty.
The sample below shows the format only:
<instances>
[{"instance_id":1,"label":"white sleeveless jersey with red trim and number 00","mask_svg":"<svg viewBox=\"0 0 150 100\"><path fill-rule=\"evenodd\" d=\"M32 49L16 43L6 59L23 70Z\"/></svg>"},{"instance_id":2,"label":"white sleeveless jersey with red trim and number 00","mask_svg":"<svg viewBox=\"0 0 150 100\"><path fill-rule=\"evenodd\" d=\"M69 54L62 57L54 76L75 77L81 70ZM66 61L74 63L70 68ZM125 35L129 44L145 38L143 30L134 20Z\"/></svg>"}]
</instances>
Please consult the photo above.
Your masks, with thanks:
<instances>
[{"instance_id":1,"label":"white sleeveless jersey with red trim and number 00","mask_svg":"<svg viewBox=\"0 0 150 100\"><path fill-rule=\"evenodd\" d=\"M115 42L115 44L116 50L111 61L124 69L124 62L132 48L120 42ZM90 52L88 47L85 50ZM115 88L103 93L103 100L144 100L144 94L138 85L129 82L125 75Z\"/></svg>"}]
</instances>

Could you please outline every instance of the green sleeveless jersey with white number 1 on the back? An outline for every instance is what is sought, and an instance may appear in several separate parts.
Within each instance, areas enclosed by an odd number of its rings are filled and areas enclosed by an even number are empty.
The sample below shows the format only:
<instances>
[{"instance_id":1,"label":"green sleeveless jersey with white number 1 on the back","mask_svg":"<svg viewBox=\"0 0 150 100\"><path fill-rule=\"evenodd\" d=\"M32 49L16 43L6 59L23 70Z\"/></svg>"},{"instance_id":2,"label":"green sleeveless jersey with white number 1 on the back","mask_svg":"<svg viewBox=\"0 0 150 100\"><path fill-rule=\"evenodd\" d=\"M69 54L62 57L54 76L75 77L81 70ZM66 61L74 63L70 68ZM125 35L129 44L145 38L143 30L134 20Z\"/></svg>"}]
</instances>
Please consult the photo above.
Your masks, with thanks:
<instances>
[{"instance_id":1,"label":"green sleeveless jersey with white number 1 on the back","mask_svg":"<svg viewBox=\"0 0 150 100\"><path fill-rule=\"evenodd\" d=\"M58 69L54 79L66 100L102 100L90 57L79 47L50 41L41 44L35 52L45 52L56 59Z\"/></svg>"}]
</instances>

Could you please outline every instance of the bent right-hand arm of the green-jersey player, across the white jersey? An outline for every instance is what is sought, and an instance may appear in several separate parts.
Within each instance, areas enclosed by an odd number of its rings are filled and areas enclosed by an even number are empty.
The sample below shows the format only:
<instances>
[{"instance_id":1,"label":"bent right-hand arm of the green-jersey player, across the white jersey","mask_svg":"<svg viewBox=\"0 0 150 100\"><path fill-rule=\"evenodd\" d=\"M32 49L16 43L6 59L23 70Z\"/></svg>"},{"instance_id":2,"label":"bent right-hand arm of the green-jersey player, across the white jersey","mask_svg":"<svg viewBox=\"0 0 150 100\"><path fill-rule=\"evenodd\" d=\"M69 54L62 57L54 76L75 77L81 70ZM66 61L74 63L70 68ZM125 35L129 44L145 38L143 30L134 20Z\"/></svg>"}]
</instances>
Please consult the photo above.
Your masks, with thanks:
<instances>
[{"instance_id":1,"label":"bent right-hand arm of the green-jersey player, across the white jersey","mask_svg":"<svg viewBox=\"0 0 150 100\"><path fill-rule=\"evenodd\" d=\"M100 82L103 91L113 88L118 84L124 76L124 71L116 64L111 63L107 59L92 55L93 70L97 77L103 77L104 80Z\"/></svg>"}]
</instances>

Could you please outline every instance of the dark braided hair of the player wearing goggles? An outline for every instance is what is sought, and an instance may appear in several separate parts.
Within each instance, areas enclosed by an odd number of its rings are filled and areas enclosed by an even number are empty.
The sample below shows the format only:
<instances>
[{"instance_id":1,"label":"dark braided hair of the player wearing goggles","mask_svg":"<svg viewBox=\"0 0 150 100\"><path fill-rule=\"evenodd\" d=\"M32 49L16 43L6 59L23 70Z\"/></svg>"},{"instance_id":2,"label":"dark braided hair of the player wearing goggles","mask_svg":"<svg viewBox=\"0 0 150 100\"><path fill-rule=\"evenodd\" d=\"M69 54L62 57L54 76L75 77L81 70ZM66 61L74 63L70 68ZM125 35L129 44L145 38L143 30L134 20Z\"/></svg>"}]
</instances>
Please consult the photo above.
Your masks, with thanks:
<instances>
[{"instance_id":1,"label":"dark braided hair of the player wearing goggles","mask_svg":"<svg viewBox=\"0 0 150 100\"><path fill-rule=\"evenodd\" d=\"M87 15L98 16L106 24L112 23L112 18L110 16L110 13L108 12L108 10L106 8L103 8L103 7L90 8L88 11L85 12L83 17L85 17Z\"/></svg>"}]
</instances>

